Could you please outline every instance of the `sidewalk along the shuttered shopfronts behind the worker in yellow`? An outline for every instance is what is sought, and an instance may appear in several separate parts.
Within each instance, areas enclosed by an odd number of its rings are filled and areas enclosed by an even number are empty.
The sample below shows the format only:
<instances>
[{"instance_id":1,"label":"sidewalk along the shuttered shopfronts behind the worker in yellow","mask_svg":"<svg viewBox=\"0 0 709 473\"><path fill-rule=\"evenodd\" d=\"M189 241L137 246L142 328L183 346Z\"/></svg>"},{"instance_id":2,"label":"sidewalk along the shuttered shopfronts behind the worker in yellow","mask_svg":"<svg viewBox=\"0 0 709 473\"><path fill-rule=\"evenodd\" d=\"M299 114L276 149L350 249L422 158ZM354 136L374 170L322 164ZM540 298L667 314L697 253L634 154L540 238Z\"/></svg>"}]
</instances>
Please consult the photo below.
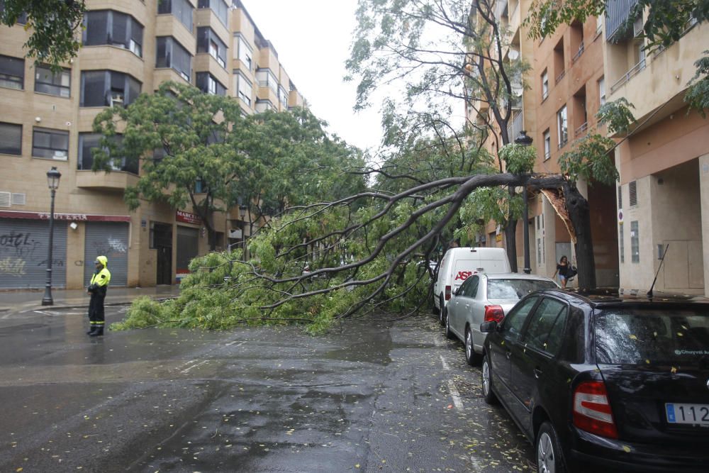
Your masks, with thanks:
<instances>
[{"instance_id":1,"label":"sidewalk along the shuttered shopfronts behind the worker in yellow","mask_svg":"<svg viewBox=\"0 0 709 473\"><path fill-rule=\"evenodd\" d=\"M84 289L52 289L52 306L43 306L44 289L0 291L0 316L51 308L87 308L91 296ZM109 287L104 304L130 304L140 296L171 299L179 296L179 284L155 287Z\"/></svg>"}]
</instances>

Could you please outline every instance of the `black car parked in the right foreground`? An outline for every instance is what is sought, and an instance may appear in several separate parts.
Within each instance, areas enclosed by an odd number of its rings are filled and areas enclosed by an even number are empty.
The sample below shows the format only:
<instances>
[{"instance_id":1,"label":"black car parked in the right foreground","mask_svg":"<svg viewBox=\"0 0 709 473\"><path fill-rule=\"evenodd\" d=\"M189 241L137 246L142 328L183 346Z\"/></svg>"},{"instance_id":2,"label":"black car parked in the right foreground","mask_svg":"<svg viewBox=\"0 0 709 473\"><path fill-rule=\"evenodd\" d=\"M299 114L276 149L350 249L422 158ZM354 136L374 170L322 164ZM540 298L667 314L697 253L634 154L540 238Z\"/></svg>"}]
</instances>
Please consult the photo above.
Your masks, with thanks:
<instances>
[{"instance_id":1,"label":"black car parked in the right foreground","mask_svg":"<svg viewBox=\"0 0 709 473\"><path fill-rule=\"evenodd\" d=\"M485 400L540 472L709 472L709 304L549 289L481 324Z\"/></svg>"}]
</instances>

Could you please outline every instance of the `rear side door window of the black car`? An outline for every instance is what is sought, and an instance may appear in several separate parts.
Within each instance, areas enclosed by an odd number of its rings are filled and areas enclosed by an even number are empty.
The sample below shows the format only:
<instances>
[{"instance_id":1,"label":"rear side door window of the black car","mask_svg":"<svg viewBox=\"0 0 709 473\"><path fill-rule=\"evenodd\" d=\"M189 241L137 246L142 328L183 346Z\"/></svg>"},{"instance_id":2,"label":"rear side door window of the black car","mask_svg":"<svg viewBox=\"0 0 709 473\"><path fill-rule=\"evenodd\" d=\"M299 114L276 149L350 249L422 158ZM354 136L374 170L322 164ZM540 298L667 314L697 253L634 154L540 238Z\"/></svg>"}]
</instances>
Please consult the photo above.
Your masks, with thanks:
<instances>
[{"instance_id":1,"label":"rear side door window of the black car","mask_svg":"<svg viewBox=\"0 0 709 473\"><path fill-rule=\"evenodd\" d=\"M543 299L525 333L527 346L556 355L562 345L566 323L566 304L554 299Z\"/></svg>"}]
</instances>

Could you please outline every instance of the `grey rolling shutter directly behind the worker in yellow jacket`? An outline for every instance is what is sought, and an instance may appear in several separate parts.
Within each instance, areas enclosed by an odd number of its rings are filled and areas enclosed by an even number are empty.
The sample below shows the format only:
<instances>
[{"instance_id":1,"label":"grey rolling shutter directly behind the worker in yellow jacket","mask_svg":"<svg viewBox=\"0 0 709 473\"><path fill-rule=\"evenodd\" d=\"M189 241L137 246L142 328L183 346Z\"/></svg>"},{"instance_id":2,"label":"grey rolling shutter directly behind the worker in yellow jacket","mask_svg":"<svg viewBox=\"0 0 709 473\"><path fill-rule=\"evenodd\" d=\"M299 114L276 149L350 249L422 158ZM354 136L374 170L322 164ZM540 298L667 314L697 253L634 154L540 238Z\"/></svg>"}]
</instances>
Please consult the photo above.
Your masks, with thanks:
<instances>
[{"instance_id":1,"label":"grey rolling shutter directly behind the worker in yellow jacket","mask_svg":"<svg viewBox=\"0 0 709 473\"><path fill-rule=\"evenodd\" d=\"M89 285L97 256L108 258L109 286L128 285L128 223L87 222L84 247L84 286Z\"/></svg>"}]
</instances>

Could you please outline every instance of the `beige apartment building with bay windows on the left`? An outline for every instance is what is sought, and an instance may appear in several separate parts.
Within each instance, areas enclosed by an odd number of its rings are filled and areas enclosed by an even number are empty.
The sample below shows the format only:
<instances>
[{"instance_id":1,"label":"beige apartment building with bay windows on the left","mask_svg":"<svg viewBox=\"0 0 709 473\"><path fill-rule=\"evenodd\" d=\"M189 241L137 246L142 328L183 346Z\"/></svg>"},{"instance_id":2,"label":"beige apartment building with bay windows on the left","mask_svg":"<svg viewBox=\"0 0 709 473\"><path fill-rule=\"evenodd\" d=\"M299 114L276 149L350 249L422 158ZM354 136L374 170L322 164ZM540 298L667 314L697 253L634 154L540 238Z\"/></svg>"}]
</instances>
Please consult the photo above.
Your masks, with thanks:
<instances>
[{"instance_id":1,"label":"beige apartment building with bay windows on the left","mask_svg":"<svg viewBox=\"0 0 709 473\"><path fill-rule=\"evenodd\" d=\"M87 4L83 47L60 74L25 59L22 19L0 26L0 289L45 284L52 167L62 174L52 286L85 286L97 255L108 257L112 285L174 284L192 257L208 252L192 208L144 201L128 211L123 190L137 182L138 165L91 171L91 124L104 107L128 106L166 80L232 96L244 113L304 104L239 0ZM248 226L238 213L214 218L220 249L242 242Z\"/></svg>"}]
</instances>

